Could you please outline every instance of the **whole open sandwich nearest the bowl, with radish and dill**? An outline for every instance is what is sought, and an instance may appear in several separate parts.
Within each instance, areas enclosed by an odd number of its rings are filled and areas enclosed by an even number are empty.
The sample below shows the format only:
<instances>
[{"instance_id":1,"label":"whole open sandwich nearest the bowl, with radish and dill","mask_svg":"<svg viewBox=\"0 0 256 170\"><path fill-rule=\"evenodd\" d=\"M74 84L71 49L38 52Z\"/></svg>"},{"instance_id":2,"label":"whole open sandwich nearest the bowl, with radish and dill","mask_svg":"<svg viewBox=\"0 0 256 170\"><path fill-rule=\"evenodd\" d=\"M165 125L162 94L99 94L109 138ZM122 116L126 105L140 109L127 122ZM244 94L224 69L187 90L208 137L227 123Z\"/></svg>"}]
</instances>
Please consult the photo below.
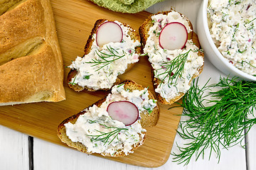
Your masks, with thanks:
<instances>
[{"instance_id":1,"label":"whole open sandwich nearest the bowl, with radish and dill","mask_svg":"<svg viewBox=\"0 0 256 170\"><path fill-rule=\"evenodd\" d=\"M178 101L203 70L203 50L193 42L191 22L174 10L159 12L144 21L139 34L151 63L157 101Z\"/></svg>"}]
</instances>

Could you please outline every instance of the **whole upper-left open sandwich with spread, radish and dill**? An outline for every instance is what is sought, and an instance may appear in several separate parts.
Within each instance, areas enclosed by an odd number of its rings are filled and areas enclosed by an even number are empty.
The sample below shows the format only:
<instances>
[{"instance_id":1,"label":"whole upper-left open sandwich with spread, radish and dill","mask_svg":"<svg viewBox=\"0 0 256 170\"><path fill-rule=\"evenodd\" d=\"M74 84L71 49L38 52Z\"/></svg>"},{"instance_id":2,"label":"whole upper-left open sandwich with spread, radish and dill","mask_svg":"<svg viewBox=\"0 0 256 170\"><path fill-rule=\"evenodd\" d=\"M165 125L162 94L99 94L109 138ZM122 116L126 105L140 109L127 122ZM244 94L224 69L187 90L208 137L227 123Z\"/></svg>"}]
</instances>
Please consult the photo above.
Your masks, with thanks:
<instances>
[{"instance_id":1,"label":"whole upper-left open sandwich with spread, radish and dill","mask_svg":"<svg viewBox=\"0 0 256 170\"><path fill-rule=\"evenodd\" d=\"M139 41L139 34L126 23L97 20L85 45L85 55L69 66L68 86L75 91L111 89L119 83L119 74L139 61Z\"/></svg>"}]
</instances>

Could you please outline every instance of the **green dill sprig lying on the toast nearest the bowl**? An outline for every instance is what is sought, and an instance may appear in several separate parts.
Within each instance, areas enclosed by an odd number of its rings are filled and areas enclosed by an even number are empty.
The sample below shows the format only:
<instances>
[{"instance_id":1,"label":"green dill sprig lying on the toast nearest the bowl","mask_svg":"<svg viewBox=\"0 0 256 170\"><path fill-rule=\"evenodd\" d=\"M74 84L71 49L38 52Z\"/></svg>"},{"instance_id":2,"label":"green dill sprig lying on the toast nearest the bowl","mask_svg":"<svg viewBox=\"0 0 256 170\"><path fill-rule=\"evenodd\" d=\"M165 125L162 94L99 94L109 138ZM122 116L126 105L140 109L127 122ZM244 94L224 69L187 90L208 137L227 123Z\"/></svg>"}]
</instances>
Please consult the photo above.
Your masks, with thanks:
<instances>
[{"instance_id":1,"label":"green dill sprig lying on the toast nearest the bowl","mask_svg":"<svg viewBox=\"0 0 256 170\"><path fill-rule=\"evenodd\" d=\"M191 50L188 50L188 52L178 55L177 57L174 58L174 60L171 60L169 62L163 62L161 64L161 69L164 69L164 72L157 75L158 77L161 75L164 75L164 78L161 79L161 84L164 82L166 78L168 79L167 81L168 86L172 84L176 84L177 79L179 77L182 77L182 73L183 73L189 52L191 52Z\"/></svg>"}]
</instances>

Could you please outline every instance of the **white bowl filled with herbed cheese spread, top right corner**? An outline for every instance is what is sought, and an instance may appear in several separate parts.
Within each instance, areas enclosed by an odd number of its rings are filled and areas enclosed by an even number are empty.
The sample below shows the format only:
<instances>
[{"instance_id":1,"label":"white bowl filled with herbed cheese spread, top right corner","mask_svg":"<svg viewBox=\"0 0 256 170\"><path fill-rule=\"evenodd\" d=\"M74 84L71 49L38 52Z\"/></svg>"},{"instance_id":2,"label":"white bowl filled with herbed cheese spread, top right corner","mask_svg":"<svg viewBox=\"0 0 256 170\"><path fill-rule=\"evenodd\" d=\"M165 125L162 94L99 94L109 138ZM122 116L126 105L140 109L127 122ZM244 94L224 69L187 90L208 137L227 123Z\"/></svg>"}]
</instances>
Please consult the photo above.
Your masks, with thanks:
<instances>
[{"instance_id":1,"label":"white bowl filled with herbed cheese spread, top right corner","mask_svg":"<svg viewBox=\"0 0 256 170\"><path fill-rule=\"evenodd\" d=\"M204 0L198 38L206 56L225 74L256 81L256 2Z\"/></svg>"}]
</instances>

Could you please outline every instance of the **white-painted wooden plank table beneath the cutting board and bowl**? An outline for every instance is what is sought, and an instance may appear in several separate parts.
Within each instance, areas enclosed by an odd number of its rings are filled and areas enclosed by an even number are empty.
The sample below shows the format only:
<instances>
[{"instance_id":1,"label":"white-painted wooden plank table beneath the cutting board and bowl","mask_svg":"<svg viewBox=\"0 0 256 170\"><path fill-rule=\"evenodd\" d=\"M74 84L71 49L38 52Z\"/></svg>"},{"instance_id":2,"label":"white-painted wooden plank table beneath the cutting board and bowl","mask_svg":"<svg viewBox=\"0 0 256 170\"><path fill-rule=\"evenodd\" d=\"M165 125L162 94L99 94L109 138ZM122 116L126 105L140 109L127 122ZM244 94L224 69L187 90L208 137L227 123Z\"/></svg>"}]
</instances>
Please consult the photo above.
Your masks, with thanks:
<instances>
[{"instance_id":1,"label":"white-painted wooden plank table beneath the cutting board and bowl","mask_svg":"<svg viewBox=\"0 0 256 170\"><path fill-rule=\"evenodd\" d=\"M196 30L196 16L198 8L201 4L201 0L169 0L159 4L151 6L146 11L156 13L158 11L166 11L174 6L177 11L185 14L193 23L193 27ZM213 65L207 60L203 73L201 74L201 81L208 80L212 77L212 82L218 81L218 77L223 75L218 69L215 69ZM0 108L1 109L1 108ZM174 143L182 143L178 135ZM156 169L182 169L182 170L255 170L256 169L256 125L250 130L245 137L246 148L242 148L240 145L231 147L229 150L223 149L221 152L220 162L215 159L214 155L210 160L198 159L196 162L194 159L187 166L178 165L172 162L172 157L169 157L168 162L163 166ZM176 145L172 151L175 151ZM110 161L100 157L87 155L73 149L62 147L40 140L38 138L29 137L21 132L16 132L9 128L0 125L0 169L148 169L139 166L132 166L128 164L122 164L119 162Z\"/></svg>"}]
</instances>

